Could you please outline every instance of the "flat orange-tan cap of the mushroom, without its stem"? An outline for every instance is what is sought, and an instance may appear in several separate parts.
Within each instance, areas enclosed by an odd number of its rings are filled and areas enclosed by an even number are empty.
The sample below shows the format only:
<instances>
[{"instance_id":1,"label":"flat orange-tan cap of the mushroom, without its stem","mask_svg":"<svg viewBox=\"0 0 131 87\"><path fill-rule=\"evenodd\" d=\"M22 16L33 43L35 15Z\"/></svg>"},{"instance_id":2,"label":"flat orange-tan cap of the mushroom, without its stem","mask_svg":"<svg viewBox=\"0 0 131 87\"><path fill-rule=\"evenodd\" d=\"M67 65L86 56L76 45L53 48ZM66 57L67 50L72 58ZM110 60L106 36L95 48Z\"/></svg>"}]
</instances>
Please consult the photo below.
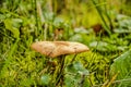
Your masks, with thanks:
<instances>
[{"instance_id":1,"label":"flat orange-tan cap of the mushroom, without its stem","mask_svg":"<svg viewBox=\"0 0 131 87\"><path fill-rule=\"evenodd\" d=\"M31 48L51 58L62 54L80 53L90 50L83 44L71 41L37 41L32 44Z\"/></svg>"}]
</instances>

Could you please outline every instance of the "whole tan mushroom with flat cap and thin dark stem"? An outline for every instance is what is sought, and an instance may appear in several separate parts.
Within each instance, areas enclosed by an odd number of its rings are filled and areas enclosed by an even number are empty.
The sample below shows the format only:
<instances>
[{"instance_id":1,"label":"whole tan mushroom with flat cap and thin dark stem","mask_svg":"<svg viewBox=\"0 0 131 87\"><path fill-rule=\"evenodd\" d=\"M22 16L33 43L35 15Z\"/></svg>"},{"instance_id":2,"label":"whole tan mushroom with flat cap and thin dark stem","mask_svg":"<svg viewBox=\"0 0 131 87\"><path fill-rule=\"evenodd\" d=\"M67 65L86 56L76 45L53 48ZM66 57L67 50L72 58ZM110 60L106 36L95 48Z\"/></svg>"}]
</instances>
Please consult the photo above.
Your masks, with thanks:
<instances>
[{"instance_id":1,"label":"whole tan mushroom with flat cap and thin dark stem","mask_svg":"<svg viewBox=\"0 0 131 87\"><path fill-rule=\"evenodd\" d=\"M80 42L72 41L37 41L32 44L32 49L49 58L59 57L59 71L57 71L56 86L63 80L64 71L64 55L76 54L80 52L88 51L87 46ZM71 61L72 62L72 61ZM60 83L61 84L61 83ZM62 85L62 84L61 84Z\"/></svg>"}]
</instances>

